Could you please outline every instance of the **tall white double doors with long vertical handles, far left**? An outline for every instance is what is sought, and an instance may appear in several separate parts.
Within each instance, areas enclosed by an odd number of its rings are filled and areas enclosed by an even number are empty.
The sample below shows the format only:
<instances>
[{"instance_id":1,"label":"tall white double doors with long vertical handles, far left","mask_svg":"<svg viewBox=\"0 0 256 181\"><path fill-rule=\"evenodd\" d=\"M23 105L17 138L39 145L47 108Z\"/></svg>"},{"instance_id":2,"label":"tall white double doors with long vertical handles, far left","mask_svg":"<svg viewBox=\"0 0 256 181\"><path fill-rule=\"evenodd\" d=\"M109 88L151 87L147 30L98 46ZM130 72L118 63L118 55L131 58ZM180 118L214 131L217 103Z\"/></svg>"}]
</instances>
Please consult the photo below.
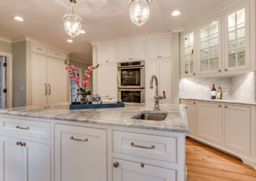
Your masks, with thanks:
<instances>
[{"instance_id":1,"label":"tall white double doors with long vertical handles, far left","mask_svg":"<svg viewBox=\"0 0 256 181\"><path fill-rule=\"evenodd\" d=\"M67 101L67 72L58 59L32 54L32 104Z\"/></svg>"}]
</instances>

